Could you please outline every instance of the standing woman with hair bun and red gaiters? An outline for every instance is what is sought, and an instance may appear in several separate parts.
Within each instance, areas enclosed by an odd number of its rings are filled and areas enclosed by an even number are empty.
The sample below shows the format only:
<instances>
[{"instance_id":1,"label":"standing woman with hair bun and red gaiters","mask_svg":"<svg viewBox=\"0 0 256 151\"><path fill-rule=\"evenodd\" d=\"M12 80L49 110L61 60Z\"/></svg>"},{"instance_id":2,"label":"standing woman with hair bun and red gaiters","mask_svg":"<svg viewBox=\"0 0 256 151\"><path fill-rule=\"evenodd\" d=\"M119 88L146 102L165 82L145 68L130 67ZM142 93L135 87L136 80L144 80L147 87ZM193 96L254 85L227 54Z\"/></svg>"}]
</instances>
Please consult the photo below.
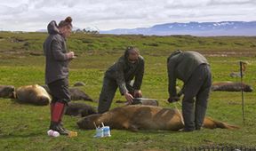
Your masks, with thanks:
<instances>
[{"instance_id":1,"label":"standing woman with hair bun and red gaiters","mask_svg":"<svg viewBox=\"0 0 256 151\"><path fill-rule=\"evenodd\" d=\"M62 127L61 119L65 107L70 101L68 91L68 63L74 59L74 52L68 52L66 39L72 31L72 19L67 17L57 26L52 20L48 26L49 36L44 41L45 83L52 93L50 130L58 131L60 135L68 135L68 130Z\"/></svg>"}]
</instances>

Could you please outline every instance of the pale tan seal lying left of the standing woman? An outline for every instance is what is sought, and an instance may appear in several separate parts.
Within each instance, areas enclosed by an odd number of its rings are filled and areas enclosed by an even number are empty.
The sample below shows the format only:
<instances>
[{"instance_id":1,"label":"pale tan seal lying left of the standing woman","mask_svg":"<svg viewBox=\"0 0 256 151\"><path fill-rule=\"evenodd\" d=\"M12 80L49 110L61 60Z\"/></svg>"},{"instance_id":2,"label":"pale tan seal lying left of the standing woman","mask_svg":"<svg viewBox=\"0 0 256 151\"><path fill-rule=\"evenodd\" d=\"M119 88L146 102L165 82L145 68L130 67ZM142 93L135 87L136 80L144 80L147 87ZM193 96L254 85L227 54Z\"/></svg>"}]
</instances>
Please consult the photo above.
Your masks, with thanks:
<instances>
[{"instance_id":1,"label":"pale tan seal lying left of the standing woman","mask_svg":"<svg viewBox=\"0 0 256 151\"><path fill-rule=\"evenodd\" d=\"M20 103L28 103L38 106L48 105L51 97L48 92L40 85L21 86L15 91L15 98Z\"/></svg>"}]
</instances>

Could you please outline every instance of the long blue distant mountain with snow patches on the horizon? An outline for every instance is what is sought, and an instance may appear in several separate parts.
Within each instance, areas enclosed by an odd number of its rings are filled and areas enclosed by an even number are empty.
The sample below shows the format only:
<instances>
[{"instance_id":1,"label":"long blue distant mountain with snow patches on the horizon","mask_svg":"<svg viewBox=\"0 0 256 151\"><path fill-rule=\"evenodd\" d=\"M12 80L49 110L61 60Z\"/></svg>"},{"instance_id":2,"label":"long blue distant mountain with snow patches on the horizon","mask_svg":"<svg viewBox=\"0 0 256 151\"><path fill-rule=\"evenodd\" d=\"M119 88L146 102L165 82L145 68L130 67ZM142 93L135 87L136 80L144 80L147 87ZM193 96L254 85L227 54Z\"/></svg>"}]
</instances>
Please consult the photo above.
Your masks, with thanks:
<instances>
[{"instance_id":1,"label":"long blue distant mountain with snow patches on the horizon","mask_svg":"<svg viewBox=\"0 0 256 151\"><path fill-rule=\"evenodd\" d=\"M256 36L256 21L221 21L166 23L151 28L117 28L100 31L100 34L116 35L191 35L191 36Z\"/></svg>"}]
</instances>

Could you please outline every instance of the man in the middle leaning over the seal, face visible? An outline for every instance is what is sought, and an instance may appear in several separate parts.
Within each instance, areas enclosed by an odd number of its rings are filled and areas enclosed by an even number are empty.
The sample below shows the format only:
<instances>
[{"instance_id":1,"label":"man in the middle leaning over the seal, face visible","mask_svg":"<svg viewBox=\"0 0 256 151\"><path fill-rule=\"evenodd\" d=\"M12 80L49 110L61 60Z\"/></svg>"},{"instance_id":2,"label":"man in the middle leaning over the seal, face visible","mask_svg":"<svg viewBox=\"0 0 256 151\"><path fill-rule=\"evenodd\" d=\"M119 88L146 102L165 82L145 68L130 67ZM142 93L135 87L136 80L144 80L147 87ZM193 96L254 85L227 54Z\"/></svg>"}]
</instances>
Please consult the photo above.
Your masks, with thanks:
<instances>
[{"instance_id":1,"label":"man in the middle leaning over the seal, face visible","mask_svg":"<svg viewBox=\"0 0 256 151\"><path fill-rule=\"evenodd\" d=\"M108 111L115 97L117 87L130 103L132 103L133 97L142 97L140 86L143 75L144 59L140 56L137 48L128 47L124 55L105 73L98 112L102 114ZM134 83L132 83L134 77Z\"/></svg>"}]
</instances>

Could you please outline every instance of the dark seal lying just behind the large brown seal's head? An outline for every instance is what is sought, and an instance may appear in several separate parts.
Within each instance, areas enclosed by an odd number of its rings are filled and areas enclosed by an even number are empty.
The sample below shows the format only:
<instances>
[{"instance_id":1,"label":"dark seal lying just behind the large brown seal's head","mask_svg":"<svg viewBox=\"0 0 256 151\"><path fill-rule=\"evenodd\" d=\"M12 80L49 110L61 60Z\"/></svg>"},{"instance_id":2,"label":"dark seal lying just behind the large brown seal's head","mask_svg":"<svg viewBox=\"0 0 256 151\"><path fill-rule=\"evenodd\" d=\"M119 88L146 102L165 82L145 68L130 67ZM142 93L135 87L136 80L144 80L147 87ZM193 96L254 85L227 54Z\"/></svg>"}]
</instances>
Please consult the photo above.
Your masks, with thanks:
<instances>
[{"instance_id":1,"label":"dark seal lying just behind the large brown seal's head","mask_svg":"<svg viewBox=\"0 0 256 151\"><path fill-rule=\"evenodd\" d=\"M82 117L93 114L97 114L96 108L85 103L69 102L65 111L65 115L80 115Z\"/></svg>"}]
</instances>

